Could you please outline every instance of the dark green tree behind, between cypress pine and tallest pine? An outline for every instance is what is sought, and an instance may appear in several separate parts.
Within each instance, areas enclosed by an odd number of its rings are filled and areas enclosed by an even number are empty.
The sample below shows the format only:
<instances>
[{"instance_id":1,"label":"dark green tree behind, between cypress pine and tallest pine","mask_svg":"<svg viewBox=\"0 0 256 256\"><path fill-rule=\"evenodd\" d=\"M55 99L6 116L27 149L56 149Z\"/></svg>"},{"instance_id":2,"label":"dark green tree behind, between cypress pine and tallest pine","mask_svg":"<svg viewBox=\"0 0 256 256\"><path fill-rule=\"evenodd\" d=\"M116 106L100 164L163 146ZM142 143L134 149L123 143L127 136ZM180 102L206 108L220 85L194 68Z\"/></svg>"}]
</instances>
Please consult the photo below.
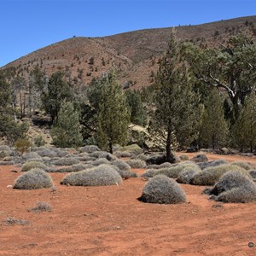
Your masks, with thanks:
<instances>
[{"instance_id":1,"label":"dark green tree behind, between cypress pine and tallest pine","mask_svg":"<svg viewBox=\"0 0 256 256\"><path fill-rule=\"evenodd\" d=\"M130 108L131 123L135 125L147 124L147 113L143 107L142 98L137 90L126 90L126 100Z\"/></svg>"}]
</instances>

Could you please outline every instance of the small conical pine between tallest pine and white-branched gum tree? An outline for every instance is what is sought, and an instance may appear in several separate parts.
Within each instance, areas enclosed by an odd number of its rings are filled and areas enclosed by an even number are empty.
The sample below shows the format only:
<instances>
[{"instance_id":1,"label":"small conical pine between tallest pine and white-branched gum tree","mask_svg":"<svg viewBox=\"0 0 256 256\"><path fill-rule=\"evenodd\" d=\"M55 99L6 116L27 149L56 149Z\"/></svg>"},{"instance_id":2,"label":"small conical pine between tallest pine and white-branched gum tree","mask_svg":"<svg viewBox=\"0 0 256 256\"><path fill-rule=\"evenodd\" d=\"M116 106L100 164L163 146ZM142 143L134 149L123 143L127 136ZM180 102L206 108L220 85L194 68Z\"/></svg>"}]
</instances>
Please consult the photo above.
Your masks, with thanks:
<instances>
[{"instance_id":1,"label":"small conical pine between tallest pine and white-branched gum tree","mask_svg":"<svg viewBox=\"0 0 256 256\"><path fill-rule=\"evenodd\" d=\"M218 90L211 90L202 115L200 143L205 148L217 148L227 143L228 124L224 119L223 102Z\"/></svg>"}]
</instances>

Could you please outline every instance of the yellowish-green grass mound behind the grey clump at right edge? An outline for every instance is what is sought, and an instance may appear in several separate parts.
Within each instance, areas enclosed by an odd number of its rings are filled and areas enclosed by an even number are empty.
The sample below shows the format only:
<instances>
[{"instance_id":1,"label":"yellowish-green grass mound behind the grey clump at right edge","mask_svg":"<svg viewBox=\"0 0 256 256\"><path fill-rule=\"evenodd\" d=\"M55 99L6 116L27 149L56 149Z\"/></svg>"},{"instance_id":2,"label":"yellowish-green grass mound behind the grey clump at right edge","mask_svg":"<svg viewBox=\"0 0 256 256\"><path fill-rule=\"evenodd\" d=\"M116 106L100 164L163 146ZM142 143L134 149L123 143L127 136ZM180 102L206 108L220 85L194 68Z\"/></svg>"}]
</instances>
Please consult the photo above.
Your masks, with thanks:
<instances>
[{"instance_id":1,"label":"yellowish-green grass mound behind the grey clump at right edge","mask_svg":"<svg viewBox=\"0 0 256 256\"><path fill-rule=\"evenodd\" d=\"M219 178L222 177L225 172L229 171L239 171L246 173L243 168L230 164L207 167L201 172L196 172L195 175L192 177L190 184L212 186L218 182Z\"/></svg>"}]
</instances>

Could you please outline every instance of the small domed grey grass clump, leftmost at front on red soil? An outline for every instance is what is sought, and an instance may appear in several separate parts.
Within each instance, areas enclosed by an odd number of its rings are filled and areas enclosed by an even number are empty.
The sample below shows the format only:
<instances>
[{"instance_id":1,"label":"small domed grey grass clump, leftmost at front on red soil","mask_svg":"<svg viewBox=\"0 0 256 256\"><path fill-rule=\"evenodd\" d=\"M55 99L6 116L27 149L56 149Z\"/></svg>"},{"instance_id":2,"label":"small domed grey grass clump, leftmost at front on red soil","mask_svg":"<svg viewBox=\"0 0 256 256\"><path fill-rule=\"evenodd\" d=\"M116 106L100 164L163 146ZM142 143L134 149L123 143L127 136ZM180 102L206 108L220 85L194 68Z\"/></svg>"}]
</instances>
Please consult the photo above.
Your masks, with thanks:
<instances>
[{"instance_id":1,"label":"small domed grey grass clump, leftmost at front on red soil","mask_svg":"<svg viewBox=\"0 0 256 256\"><path fill-rule=\"evenodd\" d=\"M53 186L53 182L48 173L35 168L25 172L15 181L14 189L44 189Z\"/></svg>"}]
</instances>

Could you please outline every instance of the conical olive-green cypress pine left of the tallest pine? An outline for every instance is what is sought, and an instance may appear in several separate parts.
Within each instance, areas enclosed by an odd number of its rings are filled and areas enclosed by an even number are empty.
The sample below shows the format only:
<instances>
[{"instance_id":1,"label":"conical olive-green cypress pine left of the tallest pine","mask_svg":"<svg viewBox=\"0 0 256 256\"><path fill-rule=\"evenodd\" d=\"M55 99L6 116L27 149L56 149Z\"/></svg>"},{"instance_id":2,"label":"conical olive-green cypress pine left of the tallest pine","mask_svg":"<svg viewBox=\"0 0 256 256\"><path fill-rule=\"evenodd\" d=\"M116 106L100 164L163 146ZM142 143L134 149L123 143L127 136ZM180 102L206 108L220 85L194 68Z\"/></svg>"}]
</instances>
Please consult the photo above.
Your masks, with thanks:
<instances>
[{"instance_id":1,"label":"conical olive-green cypress pine left of the tallest pine","mask_svg":"<svg viewBox=\"0 0 256 256\"><path fill-rule=\"evenodd\" d=\"M113 153L114 143L124 144L127 140L130 113L113 68L100 82L103 86L97 114L97 142L101 148L108 148Z\"/></svg>"}]
</instances>

